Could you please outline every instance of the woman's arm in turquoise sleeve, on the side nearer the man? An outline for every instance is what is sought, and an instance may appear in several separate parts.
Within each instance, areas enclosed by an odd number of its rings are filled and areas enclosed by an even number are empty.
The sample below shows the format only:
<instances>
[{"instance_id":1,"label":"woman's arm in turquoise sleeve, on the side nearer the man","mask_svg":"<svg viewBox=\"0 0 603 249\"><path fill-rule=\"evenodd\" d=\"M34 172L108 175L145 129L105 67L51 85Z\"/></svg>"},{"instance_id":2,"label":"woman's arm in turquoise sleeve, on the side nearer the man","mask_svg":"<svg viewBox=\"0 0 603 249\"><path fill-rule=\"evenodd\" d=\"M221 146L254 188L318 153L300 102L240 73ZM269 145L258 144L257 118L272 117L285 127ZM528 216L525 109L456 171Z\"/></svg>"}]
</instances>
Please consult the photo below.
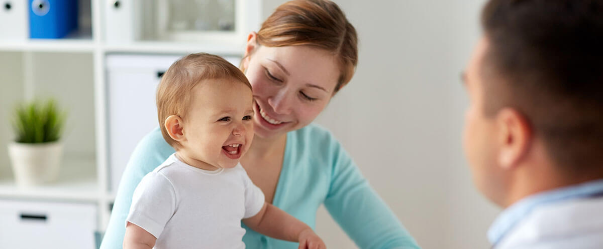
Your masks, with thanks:
<instances>
[{"instance_id":1,"label":"woman's arm in turquoise sleeve, on the side nearer the man","mask_svg":"<svg viewBox=\"0 0 603 249\"><path fill-rule=\"evenodd\" d=\"M324 206L347 235L362 249L418 249L338 142L333 141L330 153L332 177Z\"/></svg>"}]
</instances>

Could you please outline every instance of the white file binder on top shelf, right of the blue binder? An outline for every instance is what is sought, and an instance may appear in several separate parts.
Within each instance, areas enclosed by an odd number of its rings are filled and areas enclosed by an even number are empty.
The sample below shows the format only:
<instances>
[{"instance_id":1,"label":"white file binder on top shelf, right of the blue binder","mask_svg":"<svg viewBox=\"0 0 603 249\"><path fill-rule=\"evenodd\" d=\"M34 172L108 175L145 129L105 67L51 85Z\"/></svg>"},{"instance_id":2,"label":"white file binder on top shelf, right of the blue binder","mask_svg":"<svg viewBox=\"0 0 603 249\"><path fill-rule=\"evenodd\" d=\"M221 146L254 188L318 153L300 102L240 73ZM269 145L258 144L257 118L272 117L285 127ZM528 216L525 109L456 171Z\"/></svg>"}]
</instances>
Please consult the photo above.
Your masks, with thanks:
<instances>
[{"instance_id":1,"label":"white file binder on top shelf, right of the blue binder","mask_svg":"<svg viewBox=\"0 0 603 249\"><path fill-rule=\"evenodd\" d=\"M130 43L140 38L140 11L144 0L103 0L107 43ZM148 3L147 3L148 4Z\"/></svg>"}]
</instances>

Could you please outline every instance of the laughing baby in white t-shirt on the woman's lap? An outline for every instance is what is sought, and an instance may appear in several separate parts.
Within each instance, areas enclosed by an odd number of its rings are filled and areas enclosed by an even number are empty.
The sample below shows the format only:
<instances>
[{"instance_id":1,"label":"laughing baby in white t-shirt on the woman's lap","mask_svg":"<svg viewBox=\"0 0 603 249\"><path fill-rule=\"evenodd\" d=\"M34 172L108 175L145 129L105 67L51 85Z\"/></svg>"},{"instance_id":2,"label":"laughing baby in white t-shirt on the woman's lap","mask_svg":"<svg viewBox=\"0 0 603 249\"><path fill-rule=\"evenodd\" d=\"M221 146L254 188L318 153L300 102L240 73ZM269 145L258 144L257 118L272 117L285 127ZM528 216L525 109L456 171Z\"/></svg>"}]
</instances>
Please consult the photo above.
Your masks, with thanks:
<instances>
[{"instance_id":1,"label":"laughing baby in white t-shirt on the woman's lap","mask_svg":"<svg viewBox=\"0 0 603 249\"><path fill-rule=\"evenodd\" d=\"M245 225L326 248L312 229L268 204L239 164L253 140L251 85L223 58L191 54L157 88L163 138L175 153L134 191L124 248L245 248Z\"/></svg>"}]
</instances>

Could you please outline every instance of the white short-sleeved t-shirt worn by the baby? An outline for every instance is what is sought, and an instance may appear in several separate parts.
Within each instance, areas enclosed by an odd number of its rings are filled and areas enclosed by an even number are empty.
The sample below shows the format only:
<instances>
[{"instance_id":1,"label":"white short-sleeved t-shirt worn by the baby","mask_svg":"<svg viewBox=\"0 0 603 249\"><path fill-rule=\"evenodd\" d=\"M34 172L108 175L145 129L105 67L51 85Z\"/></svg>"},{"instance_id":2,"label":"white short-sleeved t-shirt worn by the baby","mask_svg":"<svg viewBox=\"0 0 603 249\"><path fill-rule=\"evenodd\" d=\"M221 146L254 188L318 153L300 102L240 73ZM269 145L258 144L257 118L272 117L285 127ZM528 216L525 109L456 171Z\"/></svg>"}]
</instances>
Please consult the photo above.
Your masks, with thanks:
<instances>
[{"instance_id":1,"label":"white short-sleeved t-shirt worn by the baby","mask_svg":"<svg viewBox=\"0 0 603 249\"><path fill-rule=\"evenodd\" d=\"M154 248L245 248L241 220L264 206L264 193L241 164L201 170L175 154L134 190L126 219L151 233Z\"/></svg>"}]
</instances>

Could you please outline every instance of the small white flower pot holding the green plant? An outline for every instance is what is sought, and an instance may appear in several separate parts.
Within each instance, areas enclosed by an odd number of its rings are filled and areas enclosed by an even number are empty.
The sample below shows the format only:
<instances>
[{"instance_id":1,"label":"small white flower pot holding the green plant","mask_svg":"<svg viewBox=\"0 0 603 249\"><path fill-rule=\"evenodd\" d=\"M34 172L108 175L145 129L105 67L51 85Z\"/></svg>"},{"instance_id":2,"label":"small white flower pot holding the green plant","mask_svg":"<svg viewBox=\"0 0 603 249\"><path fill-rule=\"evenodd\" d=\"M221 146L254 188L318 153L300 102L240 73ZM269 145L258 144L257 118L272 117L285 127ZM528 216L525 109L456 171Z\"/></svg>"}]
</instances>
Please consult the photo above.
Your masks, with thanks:
<instances>
[{"instance_id":1,"label":"small white flower pot holding the green plant","mask_svg":"<svg viewBox=\"0 0 603 249\"><path fill-rule=\"evenodd\" d=\"M63 144L58 141L8 144L8 156L18 186L42 185L56 180L62 154Z\"/></svg>"}]
</instances>

